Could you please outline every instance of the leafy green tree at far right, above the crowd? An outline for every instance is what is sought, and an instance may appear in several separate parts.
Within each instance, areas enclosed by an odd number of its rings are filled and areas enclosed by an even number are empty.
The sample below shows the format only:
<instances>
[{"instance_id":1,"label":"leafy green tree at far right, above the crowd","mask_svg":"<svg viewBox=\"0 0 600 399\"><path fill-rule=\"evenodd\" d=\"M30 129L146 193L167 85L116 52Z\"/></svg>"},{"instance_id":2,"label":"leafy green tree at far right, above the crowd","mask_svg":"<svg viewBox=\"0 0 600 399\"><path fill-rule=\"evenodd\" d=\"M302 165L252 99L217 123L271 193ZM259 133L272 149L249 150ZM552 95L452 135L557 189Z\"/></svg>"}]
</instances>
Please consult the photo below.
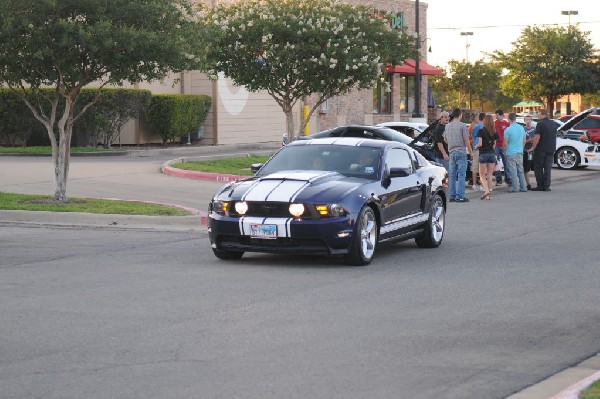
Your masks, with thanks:
<instances>
[{"instance_id":1,"label":"leafy green tree at far right, above the crowd","mask_svg":"<svg viewBox=\"0 0 600 399\"><path fill-rule=\"evenodd\" d=\"M575 26L525 28L512 43L512 51L492 55L508 71L502 77L502 90L526 99L544 99L551 114L559 97L596 92L600 66L588 36Z\"/></svg>"}]
</instances>

